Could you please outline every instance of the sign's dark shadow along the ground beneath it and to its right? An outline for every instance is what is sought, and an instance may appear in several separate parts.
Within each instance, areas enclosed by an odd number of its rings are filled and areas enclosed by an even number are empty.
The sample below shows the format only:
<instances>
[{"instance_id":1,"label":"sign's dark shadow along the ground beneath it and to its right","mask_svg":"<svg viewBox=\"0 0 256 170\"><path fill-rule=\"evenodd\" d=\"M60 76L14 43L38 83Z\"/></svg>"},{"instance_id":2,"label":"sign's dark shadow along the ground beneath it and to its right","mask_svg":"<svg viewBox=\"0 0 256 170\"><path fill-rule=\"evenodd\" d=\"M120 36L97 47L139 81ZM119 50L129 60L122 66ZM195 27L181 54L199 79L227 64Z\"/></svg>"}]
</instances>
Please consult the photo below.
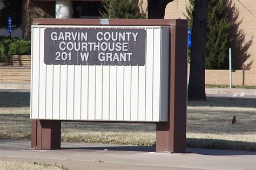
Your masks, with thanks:
<instances>
[{"instance_id":1,"label":"sign's dark shadow along the ground beneath it and to its right","mask_svg":"<svg viewBox=\"0 0 256 170\"><path fill-rule=\"evenodd\" d=\"M187 138L186 147L187 153L203 155L256 155L256 144L244 141ZM61 149L156 152L156 146L90 146L62 147Z\"/></svg>"}]
</instances>

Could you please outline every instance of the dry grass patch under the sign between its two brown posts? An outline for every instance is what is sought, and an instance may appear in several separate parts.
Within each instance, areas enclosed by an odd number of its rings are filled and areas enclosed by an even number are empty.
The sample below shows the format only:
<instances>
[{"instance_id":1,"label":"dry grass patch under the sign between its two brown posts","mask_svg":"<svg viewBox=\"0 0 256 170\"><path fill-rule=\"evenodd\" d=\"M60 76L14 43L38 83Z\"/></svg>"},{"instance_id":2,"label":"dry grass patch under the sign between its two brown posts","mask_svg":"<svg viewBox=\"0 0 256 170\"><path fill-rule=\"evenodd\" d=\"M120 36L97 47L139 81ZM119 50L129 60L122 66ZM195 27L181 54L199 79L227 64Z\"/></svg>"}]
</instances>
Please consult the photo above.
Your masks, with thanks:
<instances>
[{"instance_id":1,"label":"dry grass patch under the sign between its two brown posts","mask_svg":"<svg viewBox=\"0 0 256 170\"><path fill-rule=\"evenodd\" d=\"M62 127L63 141L143 146L156 144L155 124L62 122Z\"/></svg>"}]
</instances>

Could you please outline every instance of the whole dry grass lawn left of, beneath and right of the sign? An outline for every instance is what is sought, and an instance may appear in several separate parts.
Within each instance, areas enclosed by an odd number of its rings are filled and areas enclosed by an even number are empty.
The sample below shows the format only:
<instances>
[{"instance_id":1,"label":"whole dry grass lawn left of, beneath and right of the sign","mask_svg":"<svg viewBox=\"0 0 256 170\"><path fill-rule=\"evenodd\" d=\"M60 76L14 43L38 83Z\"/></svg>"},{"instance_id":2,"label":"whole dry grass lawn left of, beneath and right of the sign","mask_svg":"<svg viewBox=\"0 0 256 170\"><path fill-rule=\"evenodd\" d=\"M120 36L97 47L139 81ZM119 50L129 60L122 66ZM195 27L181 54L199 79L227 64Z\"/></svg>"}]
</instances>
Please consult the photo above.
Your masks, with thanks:
<instances>
[{"instance_id":1,"label":"whole dry grass lawn left of, beneath and right of the sign","mask_svg":"<svg viewBox=\"0 0 256 170\"><path fill-rule=\"evenodd\" d=\"M0 91L0 139L30 139L29 105L30 93ZM256 98L207 97L187 109L187 147L256 151ZM63 122L62 140L153 146L156 125Z\"/></svg>"}]
</instances>

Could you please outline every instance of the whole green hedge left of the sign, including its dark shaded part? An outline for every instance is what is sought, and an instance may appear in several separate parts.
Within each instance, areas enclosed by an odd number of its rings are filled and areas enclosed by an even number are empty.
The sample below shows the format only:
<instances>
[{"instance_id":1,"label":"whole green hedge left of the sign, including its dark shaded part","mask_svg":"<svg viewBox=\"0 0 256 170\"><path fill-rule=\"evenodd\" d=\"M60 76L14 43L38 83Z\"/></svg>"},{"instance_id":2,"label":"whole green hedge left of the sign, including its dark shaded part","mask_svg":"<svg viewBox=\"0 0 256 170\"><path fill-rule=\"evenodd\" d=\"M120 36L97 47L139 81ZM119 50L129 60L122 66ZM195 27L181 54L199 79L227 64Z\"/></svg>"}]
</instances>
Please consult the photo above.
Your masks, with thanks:
<instances>
[{"instance_id":1,"label":"whole green hedge left of the sign, including its dark shaded part","mask_svg":"<svg viewBox=\"0 0 256 170\"><path fill-rule=\"evenodd\" d=\"M26 55L31 52L31 41L0 37L0 62L11 62L10 55Z\"/></svg>"}]
</instances>

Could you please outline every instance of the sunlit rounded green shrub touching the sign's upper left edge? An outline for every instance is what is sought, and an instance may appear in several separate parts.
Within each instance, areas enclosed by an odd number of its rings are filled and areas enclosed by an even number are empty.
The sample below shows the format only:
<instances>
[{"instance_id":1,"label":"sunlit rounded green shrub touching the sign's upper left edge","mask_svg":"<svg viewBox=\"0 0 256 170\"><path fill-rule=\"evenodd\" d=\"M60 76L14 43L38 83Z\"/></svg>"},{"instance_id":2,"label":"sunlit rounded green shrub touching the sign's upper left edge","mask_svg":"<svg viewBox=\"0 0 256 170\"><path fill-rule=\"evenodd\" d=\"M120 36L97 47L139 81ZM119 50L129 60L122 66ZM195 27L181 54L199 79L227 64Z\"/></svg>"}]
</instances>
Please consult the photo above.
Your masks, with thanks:
<instances>
[{"instance_id":1,"label":"sunlit rounded green shrub touching the sign's upper left edge","mask_svg":"<svg viewBox=\"0 0 256 170\"><path fill-rule=\"evenodd\" d=\"M9 45L9 55L25 55L31 53L30 40L17 40Z\"/></svg>"}]
</instances>

